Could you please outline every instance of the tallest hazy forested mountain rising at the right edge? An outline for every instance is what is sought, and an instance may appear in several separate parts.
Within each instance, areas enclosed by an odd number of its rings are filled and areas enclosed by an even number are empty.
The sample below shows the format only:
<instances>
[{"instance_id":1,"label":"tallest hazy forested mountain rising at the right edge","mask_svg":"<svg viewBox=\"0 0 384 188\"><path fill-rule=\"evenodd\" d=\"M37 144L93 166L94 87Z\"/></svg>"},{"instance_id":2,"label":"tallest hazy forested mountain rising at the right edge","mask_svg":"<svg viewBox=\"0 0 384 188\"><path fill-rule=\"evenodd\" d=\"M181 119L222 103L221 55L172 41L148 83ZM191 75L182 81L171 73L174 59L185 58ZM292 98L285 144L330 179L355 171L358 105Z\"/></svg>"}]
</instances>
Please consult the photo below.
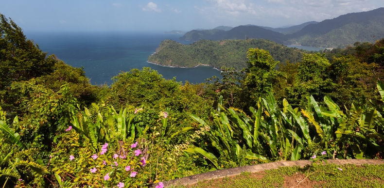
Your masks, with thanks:
<instances>
[{"instance_id":1,"label":"tallest hazy forested mountain rising at the right edge","mask_svg":"<svg viewBox=\"0 0 384 188\"><path fill-rule=\"evenodd\" d=\"M287 44L345 47L355 42L375 42L384 37L384 8L350 13L310 24L287 35Z\"/></svg>"}]
</instances>

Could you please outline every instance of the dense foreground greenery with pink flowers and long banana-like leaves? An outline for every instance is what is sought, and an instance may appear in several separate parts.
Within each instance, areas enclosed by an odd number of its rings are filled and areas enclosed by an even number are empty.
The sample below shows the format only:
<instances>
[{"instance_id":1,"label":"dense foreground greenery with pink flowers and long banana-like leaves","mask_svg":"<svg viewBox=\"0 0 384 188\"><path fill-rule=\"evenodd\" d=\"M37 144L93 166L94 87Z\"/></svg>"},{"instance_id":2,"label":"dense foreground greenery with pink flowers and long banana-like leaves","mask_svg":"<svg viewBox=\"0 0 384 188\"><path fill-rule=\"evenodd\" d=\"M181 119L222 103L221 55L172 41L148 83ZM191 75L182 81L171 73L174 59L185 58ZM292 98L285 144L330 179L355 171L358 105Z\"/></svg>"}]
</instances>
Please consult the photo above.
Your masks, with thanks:
<instances>
[{"instance_id":1,"label":"dense foreground greenery with pink flowers and long banana-like leaves","mask_svg":"<svg viewBox=\"0 0 384 188\"><path fill-rule=\"evenodd\" d=\"M144 68L97 87L0 18L4 188L142 187L320 153L384 157L384 39L303 54L279 70L251 48L245 69L206 84Z\"/></svg>"}]
</instances>

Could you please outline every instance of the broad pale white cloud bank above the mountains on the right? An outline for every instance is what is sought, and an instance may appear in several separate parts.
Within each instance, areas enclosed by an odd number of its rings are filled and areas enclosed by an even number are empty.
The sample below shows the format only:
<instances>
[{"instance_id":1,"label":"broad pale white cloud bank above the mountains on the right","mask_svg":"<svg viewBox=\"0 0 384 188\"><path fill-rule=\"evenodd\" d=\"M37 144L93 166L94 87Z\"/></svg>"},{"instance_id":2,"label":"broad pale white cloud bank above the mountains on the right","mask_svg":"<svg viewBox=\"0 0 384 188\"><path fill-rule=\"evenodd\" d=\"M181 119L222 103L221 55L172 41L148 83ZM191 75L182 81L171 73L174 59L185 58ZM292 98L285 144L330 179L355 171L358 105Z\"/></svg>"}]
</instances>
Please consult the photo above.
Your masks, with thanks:
<instances>
[{"instance_id":1,"label":"broad pale white cloud bank above the mountains on the right","mask_svg":"<svg viewBox=\"0 0 384 188\"><path fill-rule=\"evenodd\" d=\"M373 10L371 0L206 0L195 9L212 24L281 27ZM374 0L378 1L378 0ZM379 0L381 1L381 0ZM381 4L384 5L382 2ZM377 5L376 5L377 7Z\"/></svg>"}]
</instances>

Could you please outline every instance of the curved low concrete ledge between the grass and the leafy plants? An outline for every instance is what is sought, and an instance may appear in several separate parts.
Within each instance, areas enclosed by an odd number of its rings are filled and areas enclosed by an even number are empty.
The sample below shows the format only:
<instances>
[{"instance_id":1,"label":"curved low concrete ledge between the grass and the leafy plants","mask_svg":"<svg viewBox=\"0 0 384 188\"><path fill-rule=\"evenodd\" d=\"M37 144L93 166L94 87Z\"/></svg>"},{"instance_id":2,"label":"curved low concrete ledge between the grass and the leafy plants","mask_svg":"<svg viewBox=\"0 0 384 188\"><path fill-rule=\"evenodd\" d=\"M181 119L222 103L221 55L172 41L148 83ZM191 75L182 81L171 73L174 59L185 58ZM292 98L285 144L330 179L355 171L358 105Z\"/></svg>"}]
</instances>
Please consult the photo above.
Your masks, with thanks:
<instances>
[{"instance_id":1,"label":"curved low concrete ledge between the grass and the leafy plants","mask_svg":"<svg viewBox=\"0 0 384 188\"><path fill-rule=\"evenodd\" d=\"M384 164L384 160L382 159L328 159L328 163L337 164L337 165L343 165L343 164L354 164L354 165L363 165L363 164ZM211 171L206 173L200 173L195 174L187 177L182 177L178 179L173 179L169 181L163 182L164 187L169 186L188 186L192 184L196 184L199 181L204 180L210 180L210 179L216 179L220 177L230 177L239 175L242 172L260 172L264 170L270 170L270 169L278 169L279 167L287 167L287 166L299 166L304 167L306 165L311 165L313 161L310 160L296 160L296 161L277 161L277 162L271 162L271 163L264 163L264 164L256 164L256 165L249 165L249 166L243 166L243 167L235 167L230 169L222 169L217 171ZM158 184L153 184L150 186L150 188L154 188Z\"/></svg>"}]
</instances>

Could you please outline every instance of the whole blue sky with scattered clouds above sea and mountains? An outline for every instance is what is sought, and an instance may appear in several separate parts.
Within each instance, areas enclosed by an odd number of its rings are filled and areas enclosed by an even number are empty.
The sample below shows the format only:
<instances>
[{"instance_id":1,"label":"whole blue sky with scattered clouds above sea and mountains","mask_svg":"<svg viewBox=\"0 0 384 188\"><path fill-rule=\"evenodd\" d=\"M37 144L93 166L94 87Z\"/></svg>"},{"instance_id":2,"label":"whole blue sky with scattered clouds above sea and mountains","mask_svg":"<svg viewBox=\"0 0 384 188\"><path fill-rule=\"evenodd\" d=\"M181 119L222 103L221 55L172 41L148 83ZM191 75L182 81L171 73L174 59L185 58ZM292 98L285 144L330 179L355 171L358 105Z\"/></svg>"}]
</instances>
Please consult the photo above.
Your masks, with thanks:
<instances>
[{"instance_id":1,"label":"whole blue sky with scattered clouds above sea and mountains","mask_svg":"<svg viewBox=\"0 0 384 188\"><path fill-rule=\"evenodd\" d=\"M384 0L0 0L23 31L283 27L384 7Z\"/></svg>"}]
</instances>

